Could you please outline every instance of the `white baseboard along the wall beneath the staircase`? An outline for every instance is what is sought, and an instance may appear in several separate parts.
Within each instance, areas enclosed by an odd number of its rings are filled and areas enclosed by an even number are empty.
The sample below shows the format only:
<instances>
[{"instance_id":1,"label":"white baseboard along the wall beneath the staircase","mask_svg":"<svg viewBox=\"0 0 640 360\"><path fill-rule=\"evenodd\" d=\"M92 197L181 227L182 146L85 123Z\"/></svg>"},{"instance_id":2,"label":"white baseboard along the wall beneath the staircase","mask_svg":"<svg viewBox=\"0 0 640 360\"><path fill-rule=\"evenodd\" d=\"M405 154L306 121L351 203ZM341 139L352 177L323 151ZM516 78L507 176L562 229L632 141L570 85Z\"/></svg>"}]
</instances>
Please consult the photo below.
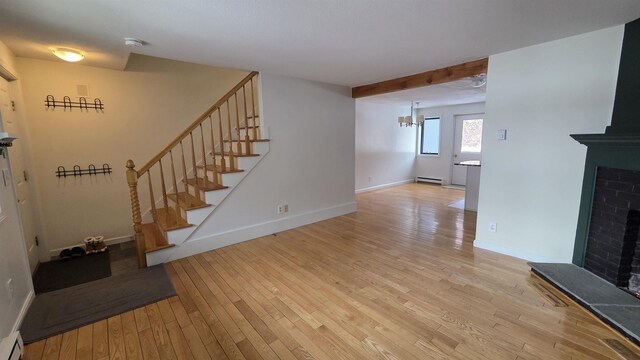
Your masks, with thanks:
<instances>
[{"instance_id":1,"label":"white baseboard along the wall beneath the staircase","mask_svg":"<svg viewBox=\"0 0 640 360\"><path fill-rule=\"evenodd\" d=\"M336 216L350 214L355 211L356 203L349 202L321 210L314 210L303 214L289 216L283 219L267 221L260 224L225 231L199 239L191 239L174 248L147 254L147 264L151 266L181 259L243 241L327 220Z\"/></svg>"}]
</instances>

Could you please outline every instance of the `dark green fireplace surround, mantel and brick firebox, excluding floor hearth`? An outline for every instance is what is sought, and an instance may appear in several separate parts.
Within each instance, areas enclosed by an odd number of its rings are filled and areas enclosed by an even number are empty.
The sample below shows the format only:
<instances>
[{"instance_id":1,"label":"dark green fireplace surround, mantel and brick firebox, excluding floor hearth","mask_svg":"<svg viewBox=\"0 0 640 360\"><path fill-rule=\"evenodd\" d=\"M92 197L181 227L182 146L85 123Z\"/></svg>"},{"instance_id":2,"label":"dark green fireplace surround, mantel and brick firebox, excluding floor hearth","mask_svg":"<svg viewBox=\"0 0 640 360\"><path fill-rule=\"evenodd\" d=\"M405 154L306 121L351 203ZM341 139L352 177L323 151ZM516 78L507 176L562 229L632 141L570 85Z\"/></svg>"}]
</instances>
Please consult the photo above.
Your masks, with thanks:
<instances>
[{"instance_id":1,"label":"dark green fireplace surround, mantel and brick firebox, excluding floor hearth","mask_svg":"<svg viewBox=\"0 0 640 360\"><path fill-rule=\"evenodd\" d=\"M573 263L635 293L640 280L640 19L626 24L611 125L587 146Z\"/></svg>"}]
</instances>

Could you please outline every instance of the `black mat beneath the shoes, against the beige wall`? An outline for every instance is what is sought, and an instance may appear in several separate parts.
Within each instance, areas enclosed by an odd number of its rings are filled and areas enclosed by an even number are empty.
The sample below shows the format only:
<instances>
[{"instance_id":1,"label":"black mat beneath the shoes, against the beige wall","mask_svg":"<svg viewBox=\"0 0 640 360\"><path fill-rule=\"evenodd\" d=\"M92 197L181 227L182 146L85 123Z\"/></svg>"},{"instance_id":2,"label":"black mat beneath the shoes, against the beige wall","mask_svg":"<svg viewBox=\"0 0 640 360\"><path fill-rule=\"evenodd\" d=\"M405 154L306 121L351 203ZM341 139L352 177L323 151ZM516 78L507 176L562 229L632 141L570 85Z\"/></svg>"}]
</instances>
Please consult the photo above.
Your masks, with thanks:
<instances>
[{"instance_id":1,"label":"black mat beneath the shoes, against the beige wall","mask_svg":"<svg viewBox=\"0 0 640 360\"><path fill-rule=\"evenodd\" d=\"M68 288L111 276L109 252L85 255L68 261L41 263L33 275L36 294Z\"/></svg>"}]
</instances>

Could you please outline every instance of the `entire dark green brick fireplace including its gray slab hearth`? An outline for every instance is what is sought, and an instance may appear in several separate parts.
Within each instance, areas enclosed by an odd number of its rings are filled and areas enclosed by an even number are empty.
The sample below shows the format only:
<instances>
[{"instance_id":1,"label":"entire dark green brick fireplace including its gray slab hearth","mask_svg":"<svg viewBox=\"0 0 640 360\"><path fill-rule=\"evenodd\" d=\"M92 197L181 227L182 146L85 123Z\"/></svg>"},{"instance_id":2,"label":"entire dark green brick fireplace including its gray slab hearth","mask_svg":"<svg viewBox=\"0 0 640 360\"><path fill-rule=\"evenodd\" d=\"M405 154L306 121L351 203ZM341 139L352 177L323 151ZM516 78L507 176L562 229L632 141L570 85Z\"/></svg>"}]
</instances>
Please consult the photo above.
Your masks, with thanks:
<instances>
[{"instance_id":1,"label":"entire dark green brick fireplace including its gray slab hearth","mask_svg":"<svg viewBox=\"0 0 640 360\"><path fill-rule=\"evenodd\" d=\"M611 125L601 134L571 135L587 146L573 264L529 265L534 274L640 346L638 64L640 19L625 25Z\"/></svg>"}]
</instances>

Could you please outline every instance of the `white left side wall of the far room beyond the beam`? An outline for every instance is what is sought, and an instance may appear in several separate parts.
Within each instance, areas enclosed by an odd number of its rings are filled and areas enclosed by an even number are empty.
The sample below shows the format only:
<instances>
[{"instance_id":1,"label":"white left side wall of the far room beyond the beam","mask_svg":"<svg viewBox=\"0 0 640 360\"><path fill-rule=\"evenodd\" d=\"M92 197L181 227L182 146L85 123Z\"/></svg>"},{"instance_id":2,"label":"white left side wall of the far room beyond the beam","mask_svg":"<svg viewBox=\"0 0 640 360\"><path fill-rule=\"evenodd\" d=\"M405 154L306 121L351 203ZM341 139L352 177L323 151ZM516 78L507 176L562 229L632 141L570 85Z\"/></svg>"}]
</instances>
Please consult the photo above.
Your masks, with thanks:
<instances>
[{"instance_id":1,"label":"white left side wall of the far room beyond the beam","mask_svg":"<svg viewBox=\"0 0 640 360\"><path fill-rule=\"evenodd\" d=\"M356 191L413 181L416 128L398 126L411 106L356 100Z\"/></svg>"}]
</instances>

